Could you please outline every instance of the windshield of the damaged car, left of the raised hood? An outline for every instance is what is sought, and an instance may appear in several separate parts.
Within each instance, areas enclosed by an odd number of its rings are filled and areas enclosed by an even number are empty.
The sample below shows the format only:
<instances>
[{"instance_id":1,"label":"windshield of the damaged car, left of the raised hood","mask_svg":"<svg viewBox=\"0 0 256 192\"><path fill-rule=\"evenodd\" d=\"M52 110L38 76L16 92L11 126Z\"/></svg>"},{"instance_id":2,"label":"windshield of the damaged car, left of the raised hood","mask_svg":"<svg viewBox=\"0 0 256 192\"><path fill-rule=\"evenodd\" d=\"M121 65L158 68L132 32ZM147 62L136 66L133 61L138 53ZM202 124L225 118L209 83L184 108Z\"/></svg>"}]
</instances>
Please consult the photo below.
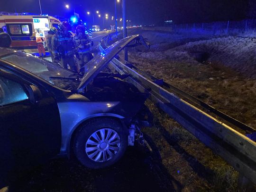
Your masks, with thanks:
<instances>
[{"instance_id":1,"label":"windshield of the damaged car, left of the raised hood","mask_svg":"<svg viewBox=\"0 0 256 192\"><path fill-rule=\"evenodd\" d=\"M76 75L74 75L72 71L27 53L18 51L4 56L1 59L21 67L62 89L76 89L80 83L79 79L76 78Z\"/></svg>"}]
</instances>

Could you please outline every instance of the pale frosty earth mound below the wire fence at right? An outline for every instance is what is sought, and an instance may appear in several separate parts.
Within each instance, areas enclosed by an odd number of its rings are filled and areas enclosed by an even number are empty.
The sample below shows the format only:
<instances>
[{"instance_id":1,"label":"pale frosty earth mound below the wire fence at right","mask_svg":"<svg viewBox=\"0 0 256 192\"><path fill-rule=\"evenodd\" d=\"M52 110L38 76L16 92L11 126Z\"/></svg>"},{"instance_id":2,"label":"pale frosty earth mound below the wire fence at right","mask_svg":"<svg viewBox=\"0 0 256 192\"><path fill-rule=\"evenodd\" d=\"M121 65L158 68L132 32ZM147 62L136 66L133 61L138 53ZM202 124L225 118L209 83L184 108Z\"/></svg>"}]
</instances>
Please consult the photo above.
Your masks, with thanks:
<instances>
[{"instance_id":1,"label":"pale frosty earth mound below the wire fence at right","mask_svg":"<svg viewBox=\"0 0 256 192\"><path fill-rule=\"evenodd\" d=\"M256 77L256 39L249 37L221 37L185 45L165 51L166 56L172 57L175 52L208 53L208 62L217 62L236 71ZM182 59L183 60L183 59Z\"/></svg>"}]
</instances>

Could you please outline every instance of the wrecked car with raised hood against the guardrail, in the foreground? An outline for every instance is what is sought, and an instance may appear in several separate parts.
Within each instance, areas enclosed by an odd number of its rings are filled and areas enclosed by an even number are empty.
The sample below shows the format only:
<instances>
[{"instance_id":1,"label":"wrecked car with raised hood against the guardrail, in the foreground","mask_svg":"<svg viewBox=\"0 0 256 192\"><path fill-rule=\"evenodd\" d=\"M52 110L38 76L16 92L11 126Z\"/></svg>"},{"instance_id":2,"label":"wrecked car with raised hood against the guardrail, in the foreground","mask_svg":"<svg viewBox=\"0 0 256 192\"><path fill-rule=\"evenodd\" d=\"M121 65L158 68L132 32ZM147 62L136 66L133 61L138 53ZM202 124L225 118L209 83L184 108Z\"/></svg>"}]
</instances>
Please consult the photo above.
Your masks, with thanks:
<instances>
[{"instance_id":1,"label":"wrecked car with raised hood against the guardrail, in the foreground","mask_svg":"<svg viewBox=\"0 0 256 192\"><path fill-rule=\"evenodd\" d=\"M128 83L128 75L102 70L134 41L143 38L111 45L86 65L84 75L0 48L0 172L56 155L75 156L90 168L117 162L133 145L130 129L143 120L148 95Z\"/></svg>"}]
</instances>

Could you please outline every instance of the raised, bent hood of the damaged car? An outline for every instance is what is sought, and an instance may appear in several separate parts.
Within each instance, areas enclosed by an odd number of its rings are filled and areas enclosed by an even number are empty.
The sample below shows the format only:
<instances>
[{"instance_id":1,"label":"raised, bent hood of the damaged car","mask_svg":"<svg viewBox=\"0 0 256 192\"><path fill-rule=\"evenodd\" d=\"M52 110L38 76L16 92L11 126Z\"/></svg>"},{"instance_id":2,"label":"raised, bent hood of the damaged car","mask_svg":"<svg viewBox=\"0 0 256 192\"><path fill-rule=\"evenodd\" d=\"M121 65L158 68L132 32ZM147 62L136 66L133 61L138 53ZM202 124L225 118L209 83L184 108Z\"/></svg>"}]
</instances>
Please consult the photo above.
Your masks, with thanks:
<instances>
[{"instance_id":1,"label":"raised, bent hood of the damaged car","mask_svg":"<svg viewBox=\"0 0 256 192\"><path fill-rule=\"evenodd\" d=\"M134 40L142 42L146 45L143 37L141 35L132 35L126 37L124 39L115 42L106 50L102 51L95 58L93 58L90 62L85 65L85 73L82 78L80 85L78 86L78 90L83 90L91 80L97 76L101 70L121 51L123 50L130 42ZM147 46L147 45L146 45Z\"/></svg>"}]
</instances>

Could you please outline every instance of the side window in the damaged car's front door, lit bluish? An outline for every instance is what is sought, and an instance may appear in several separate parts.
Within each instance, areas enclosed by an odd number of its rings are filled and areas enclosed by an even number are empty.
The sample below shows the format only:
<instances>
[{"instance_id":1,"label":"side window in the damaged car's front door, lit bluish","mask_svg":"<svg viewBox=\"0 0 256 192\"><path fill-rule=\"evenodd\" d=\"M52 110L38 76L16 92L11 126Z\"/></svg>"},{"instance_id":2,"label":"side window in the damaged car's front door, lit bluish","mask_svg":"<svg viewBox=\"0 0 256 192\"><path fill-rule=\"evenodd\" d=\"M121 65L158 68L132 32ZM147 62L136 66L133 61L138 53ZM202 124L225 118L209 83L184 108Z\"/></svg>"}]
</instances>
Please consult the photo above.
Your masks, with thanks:
<instances>
[{"instance_id":1,"label":"side window in the damaged car's front door, lit bluish","mask_svg":"<svg viewBox=\"0 0 256 192\"><path fill-rule=\"evenodd\" d=\"M0 106L27 99L27 93L21 84L0 76Z\"/></svg>"}]
</instances>

